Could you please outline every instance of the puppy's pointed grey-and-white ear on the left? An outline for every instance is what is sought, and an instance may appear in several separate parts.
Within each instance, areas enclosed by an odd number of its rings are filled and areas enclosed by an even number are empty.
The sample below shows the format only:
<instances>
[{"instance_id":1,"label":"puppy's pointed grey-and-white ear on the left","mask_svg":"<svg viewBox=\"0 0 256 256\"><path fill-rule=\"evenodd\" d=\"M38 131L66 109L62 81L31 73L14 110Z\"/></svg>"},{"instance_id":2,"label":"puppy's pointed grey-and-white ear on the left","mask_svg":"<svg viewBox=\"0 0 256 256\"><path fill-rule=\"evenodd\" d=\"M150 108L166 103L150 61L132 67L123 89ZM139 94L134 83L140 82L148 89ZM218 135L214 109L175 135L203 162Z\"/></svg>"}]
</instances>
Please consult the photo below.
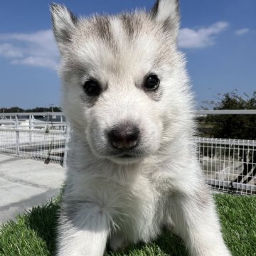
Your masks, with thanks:
<instances>
[{"instance_id":1,"label":"puppy's pointed grey-and-white ear on the left","mask_svg":"<svg viewBox=\"0 0 256 256\"><path fill-rule=\"evenodd\" d=\"M78 18L68 9L60 4L51 4L53 33L57 41L60 53L64 52L65 47L70 43L72 35L78 23Z\"/></svg>"}]
</instances>

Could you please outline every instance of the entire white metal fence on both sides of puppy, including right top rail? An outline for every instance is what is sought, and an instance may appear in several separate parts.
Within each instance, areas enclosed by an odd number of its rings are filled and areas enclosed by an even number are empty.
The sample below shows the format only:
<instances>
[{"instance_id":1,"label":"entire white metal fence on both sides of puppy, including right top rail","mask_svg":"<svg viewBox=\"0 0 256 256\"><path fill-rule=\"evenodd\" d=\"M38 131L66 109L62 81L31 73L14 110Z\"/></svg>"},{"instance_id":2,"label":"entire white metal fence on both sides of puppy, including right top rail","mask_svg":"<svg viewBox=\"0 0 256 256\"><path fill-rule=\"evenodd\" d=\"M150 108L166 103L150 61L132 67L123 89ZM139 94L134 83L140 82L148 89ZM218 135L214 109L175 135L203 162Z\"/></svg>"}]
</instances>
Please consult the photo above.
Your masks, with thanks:
<instances>
[{"instance_id":1,"label":"entire white metal fence on both sides of puppy, including right top rail","mask_svg":"<svg viewBox=\"0 0 256 256\"><path fill-rule=\"evenodd\" d=\"M249 112L256 114L255 110ZM60 112L0 114L1 154L61 164L67 156L67 138L68 125ZM256 141L195 137L195 144L209 186L223 192L256 194Z\"/></svg>"}]
</instances>

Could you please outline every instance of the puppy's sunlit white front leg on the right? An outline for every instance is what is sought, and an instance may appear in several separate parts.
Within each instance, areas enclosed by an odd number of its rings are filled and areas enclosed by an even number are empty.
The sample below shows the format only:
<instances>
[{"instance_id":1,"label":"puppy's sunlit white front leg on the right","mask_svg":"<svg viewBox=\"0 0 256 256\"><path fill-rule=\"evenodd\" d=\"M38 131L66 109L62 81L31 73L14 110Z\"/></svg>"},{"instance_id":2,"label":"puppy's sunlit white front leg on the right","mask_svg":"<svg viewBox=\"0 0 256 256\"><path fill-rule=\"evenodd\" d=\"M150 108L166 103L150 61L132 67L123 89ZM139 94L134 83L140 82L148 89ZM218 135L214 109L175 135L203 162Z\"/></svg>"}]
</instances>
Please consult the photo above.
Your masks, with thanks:
<instances>
[{"instance_id":1,"label":"puppy's sunlit white front leg on the right","mask_svg":"<svg viewBox=\"0 0 256 256\"><path fill-rule=\"evenodd\" d=\"M176 195L171 218L178 235L193 256L231 256L220 233L218 216L208 189L191 195Z\"/></svg>"}]
</instances>

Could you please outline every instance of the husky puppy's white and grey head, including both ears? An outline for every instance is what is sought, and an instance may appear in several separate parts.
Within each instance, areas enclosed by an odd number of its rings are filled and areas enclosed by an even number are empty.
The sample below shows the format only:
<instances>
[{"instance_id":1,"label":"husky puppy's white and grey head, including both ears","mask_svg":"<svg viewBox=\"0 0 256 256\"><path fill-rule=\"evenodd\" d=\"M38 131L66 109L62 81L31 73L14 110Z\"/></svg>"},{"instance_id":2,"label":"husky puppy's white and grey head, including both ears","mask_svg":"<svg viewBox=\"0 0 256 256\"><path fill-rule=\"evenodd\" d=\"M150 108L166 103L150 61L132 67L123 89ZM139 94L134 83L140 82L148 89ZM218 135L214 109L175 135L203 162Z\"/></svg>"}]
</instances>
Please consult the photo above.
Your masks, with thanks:
<instances>
[{"instance_id":1,"label":"husky puppy's white and grey head, including both ears","mask_svg":"<svg viewBox=\"0 0 256 256\"><path fill-rule=\"evenodd\" d=\"M181 133L188 97L177 0L117 16L51 11L63 110L95 156L132 163Z\"/></svg>"}]
</instances>

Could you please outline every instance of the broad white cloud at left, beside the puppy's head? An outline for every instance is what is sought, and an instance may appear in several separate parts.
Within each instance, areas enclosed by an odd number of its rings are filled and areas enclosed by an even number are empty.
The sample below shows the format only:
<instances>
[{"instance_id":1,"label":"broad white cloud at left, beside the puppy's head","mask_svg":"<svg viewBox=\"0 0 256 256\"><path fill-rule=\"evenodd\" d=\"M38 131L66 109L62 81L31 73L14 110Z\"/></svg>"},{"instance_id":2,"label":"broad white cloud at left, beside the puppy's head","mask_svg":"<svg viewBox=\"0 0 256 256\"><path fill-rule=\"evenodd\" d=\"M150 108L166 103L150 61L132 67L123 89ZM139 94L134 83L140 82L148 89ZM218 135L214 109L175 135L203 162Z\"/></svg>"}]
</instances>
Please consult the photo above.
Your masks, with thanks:
<instances>
[{"instance_id":1,"label":"broad white cloud at left, beside the puppy's head","mask_svg":"<svg viewBox=\"0 0 256 256\"><path fill-rule=\"evenodd\" d=\"M36 33L0 33L0 56L11 64L56 69L58 48L51 30Z\"/></svg>"}]
</instances>

